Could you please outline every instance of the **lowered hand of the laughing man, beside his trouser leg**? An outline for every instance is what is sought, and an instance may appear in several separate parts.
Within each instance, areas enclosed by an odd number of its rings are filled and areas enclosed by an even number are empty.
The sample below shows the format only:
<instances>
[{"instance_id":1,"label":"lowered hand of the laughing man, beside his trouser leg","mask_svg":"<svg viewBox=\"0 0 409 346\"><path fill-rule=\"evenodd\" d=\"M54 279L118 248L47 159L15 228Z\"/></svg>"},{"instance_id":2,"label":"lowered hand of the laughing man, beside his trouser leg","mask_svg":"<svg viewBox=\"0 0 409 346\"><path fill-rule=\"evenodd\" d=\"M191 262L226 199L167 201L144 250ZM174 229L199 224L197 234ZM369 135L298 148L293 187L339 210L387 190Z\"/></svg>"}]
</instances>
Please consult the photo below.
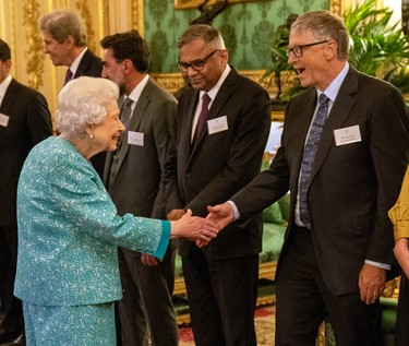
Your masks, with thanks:
<instances>
[{"instance_id":1,"label":"lowered hand of the laughing man, beside his trouser leg","mask_svg":"<svg viewBox=\"0 0 409 346\"><path fill-rule=\"evenodd\" d=\"M386 271L384 269L364 263L358 281L361 300L366 305L377 301L385 289L385 282Z\"/></svg>"}]
</instances>

